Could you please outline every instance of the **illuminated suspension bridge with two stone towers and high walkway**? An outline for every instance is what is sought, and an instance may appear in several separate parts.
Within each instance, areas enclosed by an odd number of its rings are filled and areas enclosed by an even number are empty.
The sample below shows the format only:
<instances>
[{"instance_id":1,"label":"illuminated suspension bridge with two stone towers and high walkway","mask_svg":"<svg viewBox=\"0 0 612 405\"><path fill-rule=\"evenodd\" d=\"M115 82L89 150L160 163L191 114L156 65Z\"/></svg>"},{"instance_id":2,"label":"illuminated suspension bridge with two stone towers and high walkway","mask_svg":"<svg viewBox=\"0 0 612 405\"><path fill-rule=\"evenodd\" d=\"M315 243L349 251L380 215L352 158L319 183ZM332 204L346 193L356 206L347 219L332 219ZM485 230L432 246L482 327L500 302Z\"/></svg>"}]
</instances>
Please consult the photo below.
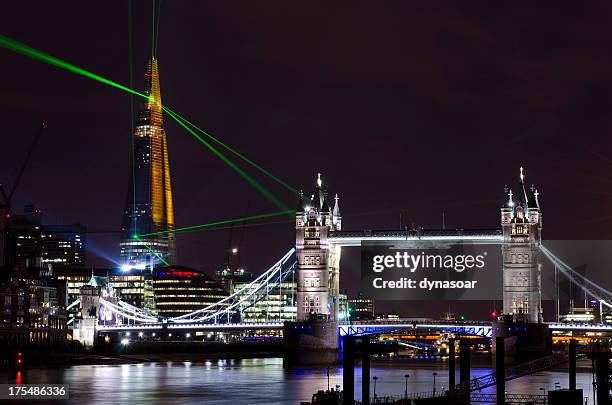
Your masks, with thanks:
<instances>
[{"instance_id":1,"label":"illuminated suspension bridge with two stone towers and high walkway","mask_svg":"<svg viewBox=\"0 0 612 405\"><path fill-rule=\"evenodd\" d=\"M612 297L606 290L589 280L577 280L572 269L542 245L542 213L538 192L527 188L521 170L519 191L504 190L501 207L501 228L496 229L421 229L399 230L343 230L339 198L328 203L327 191L322 187L320 175L315 192L310 198L300 195L296 208L295 247L244 289L218 303L193 313L174 318L158 318L146 309L132 307L120 300L88 297L89 307L82 313L111 313L94 326L95 333L128 333L155 331L248 331L283 330L289 350L334 351L338 337L346 334L385 333L409 328L431 329L458 334L471 334L489 338L494 334L516 335L519 327L536 328L546 335L550 331L605 331L610 325L545 324L541 308L541 259L547 258L570 279L604 305L610 306ZM367 322L341 323L337 319L340 259L343 247L360 246L367 242L443 242L497 244L502 251L503 315L504 322ZM292 276L297 280L297 319L294 323L241 322L242 312L264 299L279 283ZM574 278L572 278L574 277ZM580 282L582 281L582 282ZM93 308L93 310L92 310ZM109 321L110 319L113 319ZM91 324L91 323L90 323ZM534 329L535 330L535 329ZM536 334L537 334L536 333Z\"/></svg>"}]
</instances>

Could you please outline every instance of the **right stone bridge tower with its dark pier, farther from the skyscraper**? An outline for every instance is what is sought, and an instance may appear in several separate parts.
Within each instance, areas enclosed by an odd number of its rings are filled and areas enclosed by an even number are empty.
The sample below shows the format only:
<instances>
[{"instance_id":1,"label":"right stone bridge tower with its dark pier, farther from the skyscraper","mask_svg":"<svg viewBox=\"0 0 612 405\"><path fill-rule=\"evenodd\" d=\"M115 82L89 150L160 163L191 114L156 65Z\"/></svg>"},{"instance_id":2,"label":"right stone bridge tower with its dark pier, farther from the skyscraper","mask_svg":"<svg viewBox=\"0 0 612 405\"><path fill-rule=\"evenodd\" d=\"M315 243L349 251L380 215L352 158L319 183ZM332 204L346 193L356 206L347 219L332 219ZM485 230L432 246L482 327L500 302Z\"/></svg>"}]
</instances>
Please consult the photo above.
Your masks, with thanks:
<instances>
[{"instance_id":1,"label":"right stone bridge tower with its dark pier, farther from the skyscraper","mask_svg":"<svg viewBox=\"0 0 612 405\"><path fill-rule=\"evenodd\" d=\"M496 337L506 338L504 353L513 362L552 350L542 317L542 211L537 189L525 186L522 167L516 193L505 187L501 227L503 313L493 323L493 345Z\"/></svg>"}]
</instances>

